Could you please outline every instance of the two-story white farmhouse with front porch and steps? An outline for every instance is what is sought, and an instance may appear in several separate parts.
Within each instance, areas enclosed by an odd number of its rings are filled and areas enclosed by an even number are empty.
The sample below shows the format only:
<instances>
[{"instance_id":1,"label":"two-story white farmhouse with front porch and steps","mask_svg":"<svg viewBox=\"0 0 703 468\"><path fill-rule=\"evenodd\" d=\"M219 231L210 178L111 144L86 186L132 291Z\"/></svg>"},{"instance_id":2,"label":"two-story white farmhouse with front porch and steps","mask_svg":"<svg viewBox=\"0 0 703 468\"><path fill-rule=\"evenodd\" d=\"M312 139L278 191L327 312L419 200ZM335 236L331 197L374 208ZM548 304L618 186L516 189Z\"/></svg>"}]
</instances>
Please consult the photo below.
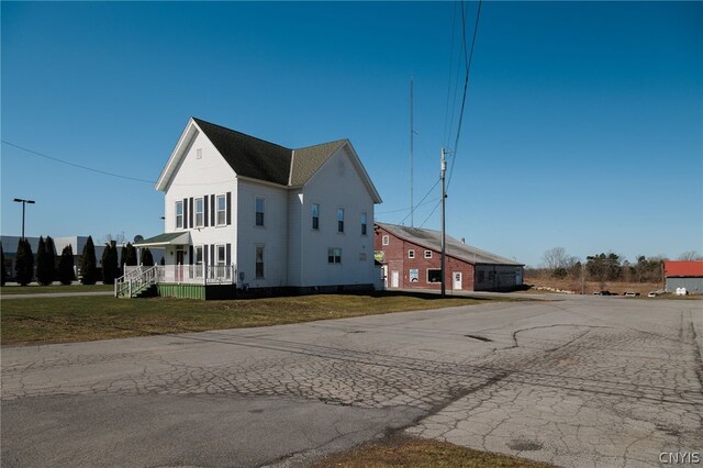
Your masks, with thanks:
<instances>
[{"instance_id":1,"label":"two-story white farmhouse with front porch and steps","mask_svg":"<svg viewBox=\"0 0 703 468\"><path fill-rule=\"evenodd\" d=\"M165 233L136 245L165 248L165 266L127 275L118 293L372 287L381 198L348 140L289 149L192 118L156 189Z\"/></svg>"}]
</instances>

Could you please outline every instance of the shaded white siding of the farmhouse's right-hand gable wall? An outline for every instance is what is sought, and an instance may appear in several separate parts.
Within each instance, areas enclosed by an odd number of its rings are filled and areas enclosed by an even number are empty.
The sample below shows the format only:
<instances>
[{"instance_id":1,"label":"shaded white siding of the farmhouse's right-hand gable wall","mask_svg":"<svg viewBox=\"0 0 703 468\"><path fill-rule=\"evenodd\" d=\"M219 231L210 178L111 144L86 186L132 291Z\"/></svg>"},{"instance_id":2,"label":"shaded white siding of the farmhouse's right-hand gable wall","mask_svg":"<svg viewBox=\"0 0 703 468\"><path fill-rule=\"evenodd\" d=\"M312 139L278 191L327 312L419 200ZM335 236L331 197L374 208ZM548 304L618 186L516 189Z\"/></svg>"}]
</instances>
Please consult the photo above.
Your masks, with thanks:
<instances>
[{"instance_id":1,"label":"shaded white siding of the farmhouse's right-hand gable wall","mask_svg":"<svg viewBox=\"0 0 703 468\"><path fill-rule=\"evenodd\" d=\"M320 203L320 230L312 229L312 203ZM337 209L345 213L344 234L337 232ZM367 234L361 235L361 213ZM354 167L346 146L308 181L301 216L301 282L294 286L372 285L373 201ZM327 248L342 248L342 264L327 261ZM365 259L361 259L365 257Z\"/></svg>"}]
</instances>

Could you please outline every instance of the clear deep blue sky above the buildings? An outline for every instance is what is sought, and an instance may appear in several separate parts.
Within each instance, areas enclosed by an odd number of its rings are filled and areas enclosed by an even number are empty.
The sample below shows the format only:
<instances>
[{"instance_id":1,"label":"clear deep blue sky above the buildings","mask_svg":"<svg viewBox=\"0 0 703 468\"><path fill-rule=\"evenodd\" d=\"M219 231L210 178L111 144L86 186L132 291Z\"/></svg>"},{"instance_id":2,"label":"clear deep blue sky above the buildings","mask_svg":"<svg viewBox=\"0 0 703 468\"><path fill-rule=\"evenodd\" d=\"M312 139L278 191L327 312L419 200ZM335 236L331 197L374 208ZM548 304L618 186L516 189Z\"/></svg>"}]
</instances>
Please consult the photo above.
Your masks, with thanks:
<instances>
[{"instance_id":1,"label":"clear deep blue sky above the buildings","mask_svg":"<svg viewBox=\"0 0 703 468\"><path fill-rule=\"evenodd\" d=\"M348 137L377 220L410 225L409 80L417 203L455 144L460 9L3 1L2 140L156 180L191 115L288 147ZM163 232L153 183L10 144L2 234L20 234L15 197L36 200L27 235ZM532 266L556 246L703 253L703 3L484 2L454 158L447 231L471 245ZM438 200L415 226L439 229Z\"/></svg>"}]
</instances>

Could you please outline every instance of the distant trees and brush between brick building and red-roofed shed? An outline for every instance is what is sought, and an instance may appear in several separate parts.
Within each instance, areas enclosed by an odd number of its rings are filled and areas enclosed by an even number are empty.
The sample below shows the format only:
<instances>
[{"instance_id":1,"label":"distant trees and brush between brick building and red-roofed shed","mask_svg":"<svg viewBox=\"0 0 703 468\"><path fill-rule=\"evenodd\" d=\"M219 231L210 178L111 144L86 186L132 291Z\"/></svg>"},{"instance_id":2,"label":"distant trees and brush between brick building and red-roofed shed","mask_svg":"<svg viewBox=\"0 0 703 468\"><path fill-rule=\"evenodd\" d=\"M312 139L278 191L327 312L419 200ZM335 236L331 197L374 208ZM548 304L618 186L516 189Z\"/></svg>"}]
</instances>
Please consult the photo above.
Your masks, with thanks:
<instances>
[{"instance_id":1,"label":"distant trees and brush between brick building and red-roofed shed","mask_svg":"<svg viewBox=\"0 0 703 468\"><path fill-rule=\"evenodd\" d=\"M636 261L628 261L612 252L600 253L585 257L571 256L563 247L554 247L543 255L544 267L531 268L526 276L549 276L557 279L581 279L591 281L627 281L627 282L660 282L662 281L663 256L646 257L640 255ZM701 260L695 250L681 254L679 260Z\"/></svg>"}]
</instances>

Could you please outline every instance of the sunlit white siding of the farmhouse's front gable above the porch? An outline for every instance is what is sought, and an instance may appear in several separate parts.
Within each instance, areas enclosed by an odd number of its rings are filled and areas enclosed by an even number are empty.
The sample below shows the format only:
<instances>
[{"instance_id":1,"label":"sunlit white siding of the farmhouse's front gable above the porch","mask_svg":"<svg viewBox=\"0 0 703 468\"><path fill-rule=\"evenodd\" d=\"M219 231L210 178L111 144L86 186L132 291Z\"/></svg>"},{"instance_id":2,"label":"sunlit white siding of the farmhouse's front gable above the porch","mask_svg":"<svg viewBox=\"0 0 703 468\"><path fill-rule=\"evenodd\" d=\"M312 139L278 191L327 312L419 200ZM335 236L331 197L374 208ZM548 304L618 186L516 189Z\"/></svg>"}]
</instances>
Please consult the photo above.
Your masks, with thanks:
<instances>
[{"instance_id":1,"label":"sunlit white siding of the farmhouse's front gable above the porch","mask_svg":"<svg viewBox=\"0 0 703 468\"><path fill-rule=\"evenodd\" d=\"M200 152L200 158L198 157L198 149ZM201 229L176 229L176 201L200 198L204 196L226 194L231 192L231 207L230 210L231 221L230 225L213 226L212 220L208 227ZM211 202L208 202L208 210L210 211ZM216 245L216 244L231 244L231 263L237 265L236 255L236 205L237 205L237 179L234 170L224 160L215 147L210 141L201 133L198 133L189 147L186 151L186 155L177 169L171 185L166 191L165 197L165 232L181 232L190 231L192 245ZM190 208L189 208L190 211ZM208 213L210 219L210 213ZM216 218L216 210L215 210ZM194 224L194 216L193 216ZM188 252L188 249L187 249ZM189 255L189 254L187 254ZM172 265L176 263L175 247L169 247L166 250L166 264ZM189 264L190 258L186 257L185 263ZM210 263L208 260L208 263Z\"/></svg>"}]
</instances>

